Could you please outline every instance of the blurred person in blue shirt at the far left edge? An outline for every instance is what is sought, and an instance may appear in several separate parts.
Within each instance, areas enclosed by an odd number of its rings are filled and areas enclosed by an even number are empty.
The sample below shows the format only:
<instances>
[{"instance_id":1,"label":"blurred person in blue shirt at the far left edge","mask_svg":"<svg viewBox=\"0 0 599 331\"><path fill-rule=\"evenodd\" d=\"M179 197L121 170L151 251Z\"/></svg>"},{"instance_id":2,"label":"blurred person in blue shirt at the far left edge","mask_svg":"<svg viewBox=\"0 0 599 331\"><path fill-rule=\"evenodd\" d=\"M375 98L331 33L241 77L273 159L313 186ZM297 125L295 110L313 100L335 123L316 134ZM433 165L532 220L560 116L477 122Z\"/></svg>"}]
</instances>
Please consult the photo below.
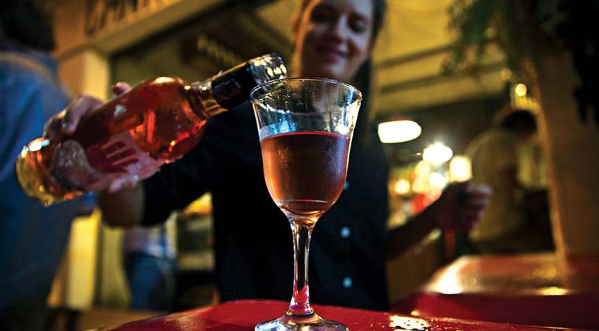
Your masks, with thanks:
<instances>
[{"instance_id":1,"label":"blurred person in blue shirt at the far left edge","mask_svg":"<svg viewBox=\"0 0 599 331\"><path fill-rule=\"evenodd\" d=\"M17 183L15 157L70 100L57 80L49 1L0 5L0 329L43 330L46 297L82 199L43 207Z\"/></svg>"}]
</instances>

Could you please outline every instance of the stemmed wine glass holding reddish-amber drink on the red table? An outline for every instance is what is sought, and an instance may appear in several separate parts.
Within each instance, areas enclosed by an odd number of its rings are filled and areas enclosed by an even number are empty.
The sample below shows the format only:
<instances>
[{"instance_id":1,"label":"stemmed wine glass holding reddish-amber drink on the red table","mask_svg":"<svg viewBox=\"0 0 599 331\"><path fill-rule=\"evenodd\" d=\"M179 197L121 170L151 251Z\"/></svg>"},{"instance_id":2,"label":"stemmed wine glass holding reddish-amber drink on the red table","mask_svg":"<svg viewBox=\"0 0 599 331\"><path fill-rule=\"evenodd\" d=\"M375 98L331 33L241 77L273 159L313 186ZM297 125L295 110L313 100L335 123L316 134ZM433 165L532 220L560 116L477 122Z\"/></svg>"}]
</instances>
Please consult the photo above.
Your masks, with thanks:
<instances>
[{"instance_id":1,"label":"stemmed wine glass holding reddish-amber drink on the red table","mask_svg":"<svg viewBox=\"0 0 599 331\"><path fill-rule=\"evenodd\" d=\"M291 304L255 330L347 330L310 305L308 249L314 225L343 190L362 94L336 80L286 78L259 85L251 100L266 186L291 224L294 249Z\"/></svg>"}]
</instances>

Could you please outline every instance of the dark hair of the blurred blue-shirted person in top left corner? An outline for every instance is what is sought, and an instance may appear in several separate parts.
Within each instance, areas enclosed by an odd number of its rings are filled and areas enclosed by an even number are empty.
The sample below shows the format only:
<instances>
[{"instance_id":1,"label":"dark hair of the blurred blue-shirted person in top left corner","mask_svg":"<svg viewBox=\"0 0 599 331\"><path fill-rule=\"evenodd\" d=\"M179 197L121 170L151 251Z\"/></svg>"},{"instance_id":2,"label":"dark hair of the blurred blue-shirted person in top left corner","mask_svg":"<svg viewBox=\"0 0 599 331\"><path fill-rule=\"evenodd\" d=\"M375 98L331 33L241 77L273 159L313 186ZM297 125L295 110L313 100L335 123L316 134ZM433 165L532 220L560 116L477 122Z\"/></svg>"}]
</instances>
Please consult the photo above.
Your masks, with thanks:
<instances>
[{"instance_id":1,"label":"dark hair of the blurred blue-shirted person in top left corner","mask_svg":"<svg viewBox=\"0 0 599 331\"><path fill-rule=\"evenodd\" d=\"M39 51L54 49L51 1L0 1L0 48L18 44Z\"/></svg>"}]
</instances>

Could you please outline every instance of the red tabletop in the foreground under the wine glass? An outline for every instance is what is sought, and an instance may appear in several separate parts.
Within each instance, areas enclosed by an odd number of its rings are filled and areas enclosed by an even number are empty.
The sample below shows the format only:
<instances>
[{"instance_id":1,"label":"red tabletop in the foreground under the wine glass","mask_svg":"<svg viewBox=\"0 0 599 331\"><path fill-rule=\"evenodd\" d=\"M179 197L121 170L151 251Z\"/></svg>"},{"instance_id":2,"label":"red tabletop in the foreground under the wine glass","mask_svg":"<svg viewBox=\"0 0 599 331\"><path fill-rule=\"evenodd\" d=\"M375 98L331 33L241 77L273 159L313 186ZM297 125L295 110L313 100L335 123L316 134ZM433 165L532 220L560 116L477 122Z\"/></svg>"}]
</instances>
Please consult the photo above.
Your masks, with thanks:
<instances>
[{"instance_id":1,"label":"red tabletop in the foreground under the wine glass","mask_svg":"<svg viewBox=\"0 0 599 331\"><path fill-rule=\"evenodd\" d=\"M203 307L187 312L159 316L127 323L116 328L98 330L122 331L251 331L257 323L282 315L288 303L282 301L243 300ZM575 330L560 328L543 328L526 325L499 324L490 322L466 321L459 319L419 318L409 315L373 312L351 308L315 305L315 310L325 319L341 321L350 331L483 331L483 330Z\"/></svg>"}]
</instances>

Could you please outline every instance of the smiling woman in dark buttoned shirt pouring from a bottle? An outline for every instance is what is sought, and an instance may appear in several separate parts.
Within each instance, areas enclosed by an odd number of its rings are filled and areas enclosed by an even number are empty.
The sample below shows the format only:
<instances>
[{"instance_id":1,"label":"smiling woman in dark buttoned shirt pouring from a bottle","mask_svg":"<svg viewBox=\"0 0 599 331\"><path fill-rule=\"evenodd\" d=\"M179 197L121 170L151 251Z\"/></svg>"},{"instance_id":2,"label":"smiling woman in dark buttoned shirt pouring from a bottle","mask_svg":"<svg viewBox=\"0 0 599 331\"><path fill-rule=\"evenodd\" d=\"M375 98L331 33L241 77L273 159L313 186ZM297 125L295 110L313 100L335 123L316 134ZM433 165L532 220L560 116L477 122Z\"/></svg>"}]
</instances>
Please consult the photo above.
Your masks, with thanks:
<instances>
[{"instance_id":1,"label":"smiling woman in dark buttoned shirt pouring from a bottle","mask_svg":"<svg viewBox=\"0 0 599 331\"><path fill-rule=\"evenodd\" d=\"M294 74L356 84L367 100L371 51L384 10L379 0L303 1L293 21ZM66 120L55 119L64 123L67 134L89 100L75 102ZM439 226L463 222L468 228L479 217L488 192L451 186L413 222L386 233L388 165L369 127L367 109L366 101L358 116L344 193L313 235L310 285L315 303L385 310L385 256L403 252ZM109 224L155 224L210 191L216 284L223 301L291 296L291 231L268 194L254 123L248 105L216 116L201 143L183 159L132 189L100 197ZM119 183L111 190L121 188ZM463 190L470 195L458 205Z\"/></svg>"}]
</instances>

